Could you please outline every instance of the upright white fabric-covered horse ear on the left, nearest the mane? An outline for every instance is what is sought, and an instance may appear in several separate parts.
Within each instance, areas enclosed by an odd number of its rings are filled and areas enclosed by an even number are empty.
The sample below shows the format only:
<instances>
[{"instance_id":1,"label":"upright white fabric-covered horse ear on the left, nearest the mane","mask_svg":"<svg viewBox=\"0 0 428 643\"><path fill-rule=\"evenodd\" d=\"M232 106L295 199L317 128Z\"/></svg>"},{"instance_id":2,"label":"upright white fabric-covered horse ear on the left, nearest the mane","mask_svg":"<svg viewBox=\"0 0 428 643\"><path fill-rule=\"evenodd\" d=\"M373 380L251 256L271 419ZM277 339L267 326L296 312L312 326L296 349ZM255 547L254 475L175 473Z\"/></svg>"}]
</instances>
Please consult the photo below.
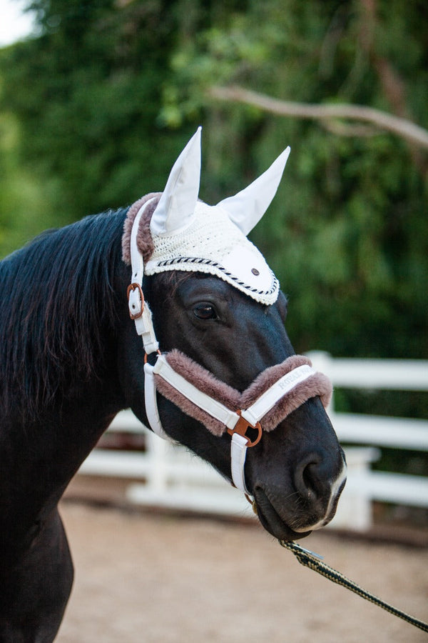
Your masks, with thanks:
<instances>
[{"instance_id":1,"label":"upright white fabric-covered horse ear on the left, nearest the mane","mask_svg":"<svg viewBox=\"0 0 428 643\"><path fill-rule=\"evenodd\" d=\"M170 171L150 229L153 235L173 234L192 218L199 194L200 127L193 134Z\"/></svg>"}]
</instances>

